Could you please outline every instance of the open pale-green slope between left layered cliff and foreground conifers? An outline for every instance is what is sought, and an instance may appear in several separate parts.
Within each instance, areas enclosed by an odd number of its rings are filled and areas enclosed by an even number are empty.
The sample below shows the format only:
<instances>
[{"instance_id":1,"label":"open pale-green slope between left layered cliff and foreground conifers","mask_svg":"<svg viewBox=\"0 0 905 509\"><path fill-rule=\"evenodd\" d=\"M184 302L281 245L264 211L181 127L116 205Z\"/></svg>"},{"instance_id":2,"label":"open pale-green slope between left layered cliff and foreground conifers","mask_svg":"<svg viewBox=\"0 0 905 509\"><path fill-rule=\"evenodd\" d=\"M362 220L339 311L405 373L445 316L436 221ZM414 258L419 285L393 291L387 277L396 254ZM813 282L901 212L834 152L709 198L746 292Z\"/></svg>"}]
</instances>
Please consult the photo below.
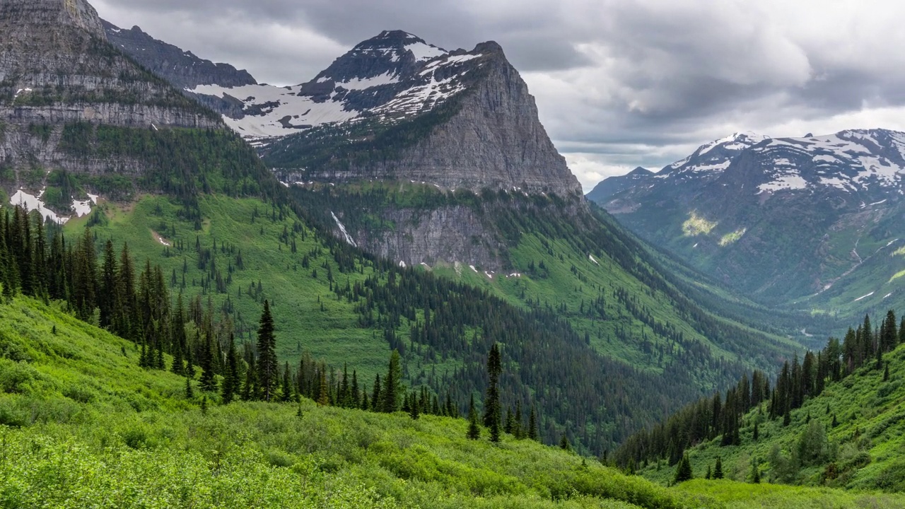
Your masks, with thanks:
<instances>
[{"instance_id":1,"label":"open pale-green slope between left layered cliff and foreground conifers","mask_svg":"<svg viewBox=\"0 0 905 509\"><path fill-rule=\"evenodd\" d=\"M141 197L129 206L105 204L103 211L107 220L91 226L101 242L111 239L114 245L129 244L139 268L145 260L160 264L167 279L176 271L176 287L182 283L183 266L187 267L186 305L191 296L201 294L205 305L210 299L214 310L220 310L229 299L233 304L233 321L240 332L240 341L254 341L254 331L261 316L263 300L269 299L277 327L277 353L281 360L295 365L302 351L308 351L318 359L334 364L348 362L358 370L362 380L370 382L377 372L386 370L389 348L382 336L382 330L359 326L354 305L338 301L330 291L328 264L334 276L334 284L354 284L373 274L369 266L358 262L358 271L340 274L338 264L317 239L308 226L301 226L305 239L296 235L297 252L281 244L283 228L291 233L296 221L291 218L271 220L271 207L254 198L231 198L207 195L200 199L200 208L205 220L202 230L196 231L193 222L180 219L180 206L167 197ZM255 209L257 216L252 221ZM86 216L71 221L67 233L75 237L90 221ZM173 235L173 230L176 235ZM161 244L159 238L172 245ZM226 293L215 289L205 290L201 281L206 270L198 268L195 241L203 248L213 248L215 263L224 274L229 264L235 265L236 256L223 254L222 246L234 246L241 250L244 268L235 270L233 282L227 285ZM177 243L185 249L176 249ZM167 256L167 252L170 254ZM310 267L302 267L302 259L309 255ZM312 277L313 272L317 277ZM262 285L262 294L249 295L251 284ZM177 289L172 291L178 293ZM241 292L241 294L240 294ZM323 310L321 310L321 304ZM407 329L406 329L407 331Z\"/></svg>"}]
</instances>

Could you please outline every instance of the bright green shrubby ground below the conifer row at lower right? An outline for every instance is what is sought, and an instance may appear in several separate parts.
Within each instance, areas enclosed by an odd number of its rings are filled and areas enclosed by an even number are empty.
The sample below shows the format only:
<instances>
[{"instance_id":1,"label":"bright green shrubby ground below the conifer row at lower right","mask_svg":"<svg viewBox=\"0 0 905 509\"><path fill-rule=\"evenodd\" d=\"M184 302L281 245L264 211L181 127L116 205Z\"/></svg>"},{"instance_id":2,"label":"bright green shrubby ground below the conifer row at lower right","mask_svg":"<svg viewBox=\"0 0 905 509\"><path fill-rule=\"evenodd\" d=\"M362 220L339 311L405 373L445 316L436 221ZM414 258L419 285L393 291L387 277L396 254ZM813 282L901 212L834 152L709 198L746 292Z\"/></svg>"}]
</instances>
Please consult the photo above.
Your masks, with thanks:
<instances>
[{"instance_id":1,"label":"bright green shrubby ground below the conifer row at lower right","mask_svg":"<svg viewBox=\"0 0 905 509\"><path fill-rule=\"evenodd\" d=\"M743 418L740 445L720 446L720 437L690 451L697 476L721 457L727 478L745 481L757 463L761 478L793 485L827 485L856 490L905 490L905 346L884 355L884 369L869 361L830 383L782 417L767 418L767 403ZM885 366L888 365L888 372ZM757 423L758 437L754 438ZM660 483L672 467L652 464L643 475Z\"/></svg>"}]
</instances>

